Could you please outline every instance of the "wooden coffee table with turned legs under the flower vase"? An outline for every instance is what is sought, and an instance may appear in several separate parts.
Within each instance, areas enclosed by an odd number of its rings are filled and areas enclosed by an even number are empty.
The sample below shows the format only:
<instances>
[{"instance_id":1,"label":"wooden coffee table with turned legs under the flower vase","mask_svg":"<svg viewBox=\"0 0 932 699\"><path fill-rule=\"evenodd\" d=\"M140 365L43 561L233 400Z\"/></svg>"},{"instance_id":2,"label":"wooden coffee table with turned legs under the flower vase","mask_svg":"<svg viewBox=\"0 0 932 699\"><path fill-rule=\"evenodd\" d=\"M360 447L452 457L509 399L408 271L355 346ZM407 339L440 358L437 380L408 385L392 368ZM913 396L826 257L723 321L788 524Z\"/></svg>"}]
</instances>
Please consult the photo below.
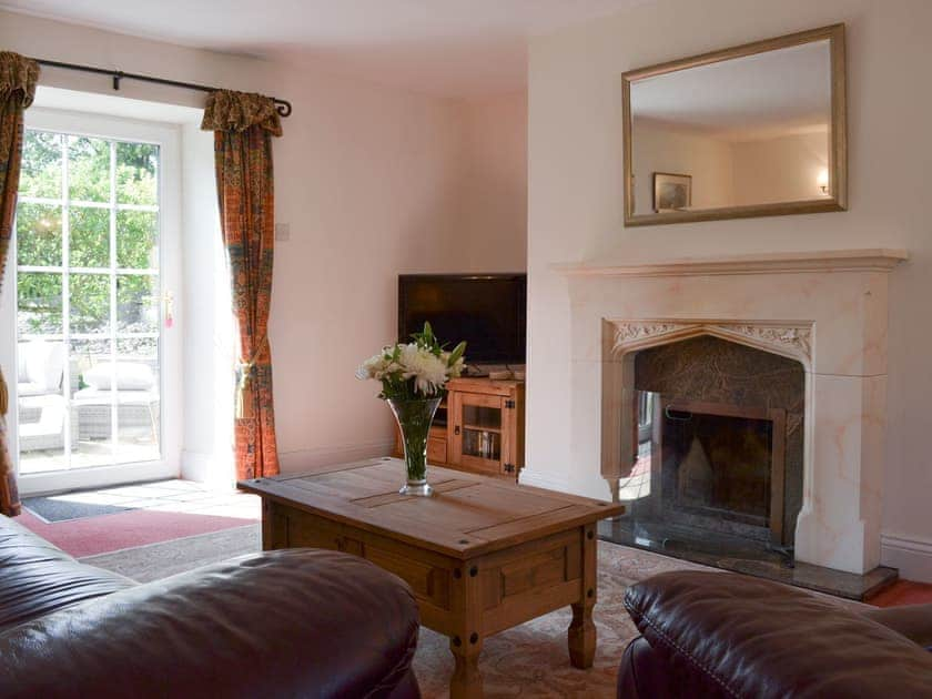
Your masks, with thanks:
<instances>
[{"instance_id":1,"label":"wooden coffee table with turned legs under the flower vase","mask_svg":"<svg viewBox=\"0 0 932 699\"><path fill-rule=\"evenodd\" d=\"M243 480L262 496L264 549L310 546L362 556L403 578L421 621L449 636L450 696L482 697L483 639L570 605L569 658L596 652L596 523L620 505L430 467L430 498L398 495L394 458Z\"/></svg>"}]
</instances>

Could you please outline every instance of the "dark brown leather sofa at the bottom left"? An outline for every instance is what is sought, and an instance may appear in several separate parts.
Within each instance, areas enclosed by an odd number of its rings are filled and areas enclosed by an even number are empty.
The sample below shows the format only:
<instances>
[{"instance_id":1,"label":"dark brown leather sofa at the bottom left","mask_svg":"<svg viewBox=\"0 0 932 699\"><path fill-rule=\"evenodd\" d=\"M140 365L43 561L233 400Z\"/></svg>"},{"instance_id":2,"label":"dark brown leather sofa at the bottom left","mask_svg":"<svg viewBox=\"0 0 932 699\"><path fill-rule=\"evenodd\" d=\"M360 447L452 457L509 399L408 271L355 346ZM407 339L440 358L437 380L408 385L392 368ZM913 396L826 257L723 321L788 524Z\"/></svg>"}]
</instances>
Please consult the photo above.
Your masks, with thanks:
<instances>
[{"instance_id":1,"label":"dark brown leather sofa at the bottom left","mask_svg":"<svg viewBox=\"0 0 932 699\"><path fill-rule=\"evenodd\" d=\"M0 517L0 697L419 697L417 605L355 556L243 556L148 585Z\"/></svg>"}]
</instances>

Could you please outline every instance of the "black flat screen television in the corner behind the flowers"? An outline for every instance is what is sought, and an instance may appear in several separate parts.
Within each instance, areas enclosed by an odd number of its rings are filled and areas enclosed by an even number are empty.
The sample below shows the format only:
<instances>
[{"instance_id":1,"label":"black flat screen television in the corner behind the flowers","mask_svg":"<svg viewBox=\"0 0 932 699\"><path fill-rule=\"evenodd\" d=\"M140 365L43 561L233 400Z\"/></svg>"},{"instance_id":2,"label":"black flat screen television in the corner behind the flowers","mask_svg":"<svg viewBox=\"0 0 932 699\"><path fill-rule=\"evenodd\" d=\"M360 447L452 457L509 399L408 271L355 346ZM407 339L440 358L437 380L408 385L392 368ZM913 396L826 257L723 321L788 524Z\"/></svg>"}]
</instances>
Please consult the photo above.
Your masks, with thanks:
<instances>
[{"instance_id":1,"label":"black flat screen television in the corner behind the flowers","mask_svg":"<svg viewBox=\"0 0 932 699\"><path fill-rule=\"evenodd\" d=\"M469 364L524 364L526 274L402 274L398 342L429 321L448 348L466 341Z\"/></svg>"}]
</instances>

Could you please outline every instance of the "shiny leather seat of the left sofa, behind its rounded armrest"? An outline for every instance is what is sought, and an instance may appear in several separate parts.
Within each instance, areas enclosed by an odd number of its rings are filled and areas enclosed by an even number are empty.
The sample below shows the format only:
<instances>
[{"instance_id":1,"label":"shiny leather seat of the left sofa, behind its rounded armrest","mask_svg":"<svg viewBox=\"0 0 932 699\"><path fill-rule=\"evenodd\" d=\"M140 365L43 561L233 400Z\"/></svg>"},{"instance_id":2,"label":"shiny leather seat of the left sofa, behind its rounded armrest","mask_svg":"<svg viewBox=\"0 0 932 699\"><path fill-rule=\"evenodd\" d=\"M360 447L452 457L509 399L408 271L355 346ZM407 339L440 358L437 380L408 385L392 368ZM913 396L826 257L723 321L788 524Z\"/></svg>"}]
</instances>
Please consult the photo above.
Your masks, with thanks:
<instances>
[{"instance_id":1,"label":"shiny leather seat of the left sofa, behind its rounded armrest","mask_svg":"<svg viewBox=\"0 0 932 699\"><path fill-rule=\"evenodd\" d=\"M26 527L0 516L0 632L134 585L116 574L78 563Z\"/></svg>"}]
</instances>

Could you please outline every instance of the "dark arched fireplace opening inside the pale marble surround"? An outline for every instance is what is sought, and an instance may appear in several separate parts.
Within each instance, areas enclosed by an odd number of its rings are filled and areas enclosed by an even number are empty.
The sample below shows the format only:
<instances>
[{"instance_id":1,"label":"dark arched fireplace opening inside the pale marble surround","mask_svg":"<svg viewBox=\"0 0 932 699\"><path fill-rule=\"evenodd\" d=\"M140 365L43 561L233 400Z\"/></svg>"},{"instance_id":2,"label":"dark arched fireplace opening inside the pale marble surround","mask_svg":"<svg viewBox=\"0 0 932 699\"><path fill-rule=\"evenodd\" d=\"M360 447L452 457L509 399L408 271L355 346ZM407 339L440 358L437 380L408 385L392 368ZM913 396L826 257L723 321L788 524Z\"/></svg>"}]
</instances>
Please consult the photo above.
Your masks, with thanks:
<instances>
[{"instance_id":1,"label":"dark arched fireplace opening inside the pale marble surround","mask_svg":"<svg viewBox=\"0 0 932 699\"><path fill-rule=\"evenodd\" d=\"M712 336L638 352L627 513L616 539L717 565L792 561L802 505L806 375L793 359Z\"/></svg>"}]
</instances>

